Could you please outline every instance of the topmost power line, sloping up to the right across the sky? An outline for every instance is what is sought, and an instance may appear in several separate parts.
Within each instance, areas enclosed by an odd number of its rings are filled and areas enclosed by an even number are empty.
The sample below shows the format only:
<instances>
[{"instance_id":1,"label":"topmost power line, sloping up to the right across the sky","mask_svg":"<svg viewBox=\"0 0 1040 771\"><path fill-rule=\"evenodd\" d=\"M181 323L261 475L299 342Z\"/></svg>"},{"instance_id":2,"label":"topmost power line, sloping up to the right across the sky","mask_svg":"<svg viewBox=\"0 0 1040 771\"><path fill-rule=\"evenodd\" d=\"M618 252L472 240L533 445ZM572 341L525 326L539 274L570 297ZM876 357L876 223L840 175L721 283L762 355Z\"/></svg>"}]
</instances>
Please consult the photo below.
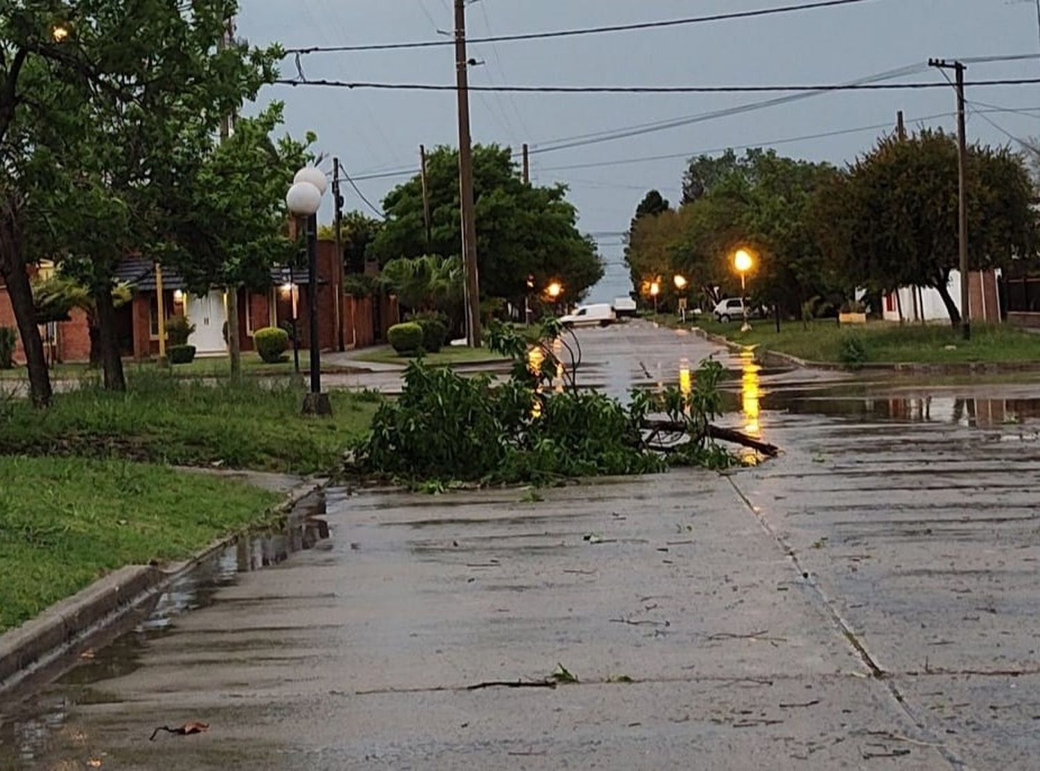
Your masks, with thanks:
<instances>
[{"instance_id":1,"label":"topmost power line, sloping up to the right across the sky","mask_svg":"<svg viewBox=\"0 0 1040 771\"><path fill-rule=\"evenodd\" d=\"M661 29L665 27L688 26L693 24L706 24L709 22L731 21L734 19L752 19L756 17L776 16L779 14L794 14L804 10L816 10L829 8L837 5L857 5L875 0L822 0L821 2L799 3L797 5L783 5L775 8L758 8L755 10L739 10L729 14L713 14L711 16L690 17L686 19L670 19L656 22L638 22L634 24L614 24L602 27L582 27L578 29L562 29L548 32L526 32L522 34L492 35L489 37L474 37L467 41L468 44L482 43L514 43L517 41L539 41L552 40L558 37L575 37L578 35L603 34L607 32L629 32L642 29ZM452 46L452 40L419 41L414 43L380 43L362 46L310 46L307 48L288 48L286 54L311 54L311 53L342 53L349 51L395 51L401 49L415 48L440 48Z\"/></svg>"}]
</instances>

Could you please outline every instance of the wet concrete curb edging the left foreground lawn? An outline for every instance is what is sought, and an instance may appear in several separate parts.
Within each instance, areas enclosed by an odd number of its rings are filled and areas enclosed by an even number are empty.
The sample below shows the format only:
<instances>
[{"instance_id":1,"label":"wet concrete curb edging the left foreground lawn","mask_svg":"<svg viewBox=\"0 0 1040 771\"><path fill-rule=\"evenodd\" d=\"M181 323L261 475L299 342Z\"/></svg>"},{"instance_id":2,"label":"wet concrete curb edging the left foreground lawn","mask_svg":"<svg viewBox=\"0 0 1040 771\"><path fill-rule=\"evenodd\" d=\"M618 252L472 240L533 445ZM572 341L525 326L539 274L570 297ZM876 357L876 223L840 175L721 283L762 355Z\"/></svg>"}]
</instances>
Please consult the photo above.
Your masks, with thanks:
<instances>
[{"instance_id":1,"label":"wet concrete curb edging the left foreground lawn","mask_svg":"<svg viewBox=\"0 0 1040 771\"><path fill-rule=\"evenodd\" d=\"M288 514L296 504L319 492L328 484L328 480L301 483L268 514ZM250 530L246 528L219 538L183 562L162 567L122 567L71 597L59 600L21 626L0 635L0 693L82 645Z\"/></svg>"}]
</instances>

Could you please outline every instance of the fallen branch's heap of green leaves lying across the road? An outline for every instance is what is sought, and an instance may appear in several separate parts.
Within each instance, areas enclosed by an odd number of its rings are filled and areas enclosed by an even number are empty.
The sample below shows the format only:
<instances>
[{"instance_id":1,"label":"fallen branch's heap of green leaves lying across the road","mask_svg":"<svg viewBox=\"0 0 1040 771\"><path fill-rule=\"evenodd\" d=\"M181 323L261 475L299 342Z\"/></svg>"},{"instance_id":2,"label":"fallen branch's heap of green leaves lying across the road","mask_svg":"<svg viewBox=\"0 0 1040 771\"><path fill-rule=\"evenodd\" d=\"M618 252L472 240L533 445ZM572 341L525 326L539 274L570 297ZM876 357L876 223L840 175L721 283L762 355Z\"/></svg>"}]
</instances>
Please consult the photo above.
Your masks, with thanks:
<instances>
[{"instance_id":1,"label":"fallen branch's heap of green leaves lying across the road","mask_svg":"<svg viewBox=\"0 0 1040 771\"><path fill-rule=\"evenodd\" d=\"M514 359L501 385L414 362L400 397L381 406L371 434L357 447L359 469L413 481L544 484L733 463L707 431L721 412L720 364L705 363L688 394L636 391L626 406L578 388L573 367L557 380L564 362L553 341L561 338L551 335L560 332L550 323L529 346L512 328L493 325L491 348Z\"/></svg>"}]
</instances>

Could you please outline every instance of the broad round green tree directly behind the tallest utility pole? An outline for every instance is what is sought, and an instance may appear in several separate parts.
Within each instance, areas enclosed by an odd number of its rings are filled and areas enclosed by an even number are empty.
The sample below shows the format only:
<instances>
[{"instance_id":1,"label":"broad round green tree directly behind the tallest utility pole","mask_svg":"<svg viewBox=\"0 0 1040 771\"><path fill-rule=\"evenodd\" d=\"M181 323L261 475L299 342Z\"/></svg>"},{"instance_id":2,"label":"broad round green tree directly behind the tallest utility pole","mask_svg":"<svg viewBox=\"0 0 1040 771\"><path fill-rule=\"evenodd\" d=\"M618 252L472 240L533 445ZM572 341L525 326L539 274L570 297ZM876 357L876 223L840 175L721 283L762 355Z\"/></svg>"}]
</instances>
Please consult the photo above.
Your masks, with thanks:
<instances>
[{"instance_id":1,"label":"broad round green tree directly behind the tallest utility pole","mask_svg":"<svg viewBox=\"0 0 1040 771\"><path fill-rule=\"evenodd\" d=\"M593 240L578 232L577 210L563 185L525 185L508 148L473 149L477 255L482 294L520 304L526 279L558 280L578 299L603 276ZM369 252L382 263L399 257L462 253L458 152L440 147L427 157L431 235L426 242L418 176L387 195L387 222Z\"/></svg>"}]
</instances>

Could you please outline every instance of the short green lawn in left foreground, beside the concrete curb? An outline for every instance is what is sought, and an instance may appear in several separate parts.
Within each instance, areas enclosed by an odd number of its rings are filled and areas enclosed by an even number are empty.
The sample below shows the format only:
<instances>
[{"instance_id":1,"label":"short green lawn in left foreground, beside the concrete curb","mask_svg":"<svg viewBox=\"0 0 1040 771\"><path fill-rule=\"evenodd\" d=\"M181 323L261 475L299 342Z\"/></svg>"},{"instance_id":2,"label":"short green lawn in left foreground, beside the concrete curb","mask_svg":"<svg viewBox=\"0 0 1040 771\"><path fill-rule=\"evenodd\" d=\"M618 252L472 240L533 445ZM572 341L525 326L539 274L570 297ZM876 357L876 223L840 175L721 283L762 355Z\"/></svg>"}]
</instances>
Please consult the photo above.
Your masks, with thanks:
<instances>
[{"instance_id":1,"label":"short green lawn in left foreground, beside the concrete curb","mask_svg":"<svg viewBox=\"0 0 1040 771\"><path fill-rule=\"evenodd\" d=\"M106 572L188 557L280 496L125 461L0 457L0 632Z\"/></svg>"}]
</instances>

